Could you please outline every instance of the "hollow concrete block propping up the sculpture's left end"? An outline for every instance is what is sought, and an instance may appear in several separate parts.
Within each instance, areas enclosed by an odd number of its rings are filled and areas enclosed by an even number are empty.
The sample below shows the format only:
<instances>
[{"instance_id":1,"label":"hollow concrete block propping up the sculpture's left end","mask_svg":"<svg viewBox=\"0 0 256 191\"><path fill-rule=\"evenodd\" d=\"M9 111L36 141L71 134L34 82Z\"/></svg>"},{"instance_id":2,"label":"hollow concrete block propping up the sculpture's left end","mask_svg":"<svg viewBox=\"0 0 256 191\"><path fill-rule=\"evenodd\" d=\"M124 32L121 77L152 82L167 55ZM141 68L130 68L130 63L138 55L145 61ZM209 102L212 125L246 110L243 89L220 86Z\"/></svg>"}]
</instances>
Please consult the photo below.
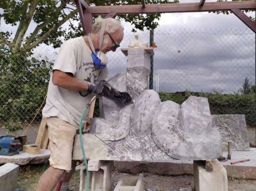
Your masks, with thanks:
<instances>
[{"instance_id":1,"label":"hollow concrete block propping up the sculpture's left end","mask_svg":"<svg viewBox=\"0 0 256 191\"><path fill-rule=\"evenodd\" d=\"M111 170L112 161L101 161L102 165L98 171L89 171L90 184L89 191L111 191ZM86 168L83 166L80 170L80 188L84 191L87 184Z\"/></svg>"}]
</instances>

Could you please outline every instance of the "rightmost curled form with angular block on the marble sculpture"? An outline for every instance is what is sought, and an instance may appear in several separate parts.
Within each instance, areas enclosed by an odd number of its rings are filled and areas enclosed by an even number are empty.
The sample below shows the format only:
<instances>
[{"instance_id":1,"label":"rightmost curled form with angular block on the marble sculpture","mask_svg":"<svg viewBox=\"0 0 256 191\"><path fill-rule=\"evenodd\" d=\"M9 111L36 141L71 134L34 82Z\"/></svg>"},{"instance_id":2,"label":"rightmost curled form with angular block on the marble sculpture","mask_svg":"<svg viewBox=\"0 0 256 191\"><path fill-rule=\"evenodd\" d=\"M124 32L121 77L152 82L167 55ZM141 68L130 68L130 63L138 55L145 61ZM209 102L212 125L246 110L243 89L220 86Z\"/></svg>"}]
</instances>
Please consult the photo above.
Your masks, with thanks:
<instances>
[{"instance_id":1,"label":"rightmost curled form with angular block on the marble sculpture","mask_svg":"<svg viewBox=\"0 0 256 191\"><path fill-rule=\"evenodd\" d=\"M162 102L153 117L155 144L175 159L218 158L222 152L221 135L211 127L211 115L206 108L207 99L195 96L190 96L182 106Z\"/></svg>"}]
</instances>

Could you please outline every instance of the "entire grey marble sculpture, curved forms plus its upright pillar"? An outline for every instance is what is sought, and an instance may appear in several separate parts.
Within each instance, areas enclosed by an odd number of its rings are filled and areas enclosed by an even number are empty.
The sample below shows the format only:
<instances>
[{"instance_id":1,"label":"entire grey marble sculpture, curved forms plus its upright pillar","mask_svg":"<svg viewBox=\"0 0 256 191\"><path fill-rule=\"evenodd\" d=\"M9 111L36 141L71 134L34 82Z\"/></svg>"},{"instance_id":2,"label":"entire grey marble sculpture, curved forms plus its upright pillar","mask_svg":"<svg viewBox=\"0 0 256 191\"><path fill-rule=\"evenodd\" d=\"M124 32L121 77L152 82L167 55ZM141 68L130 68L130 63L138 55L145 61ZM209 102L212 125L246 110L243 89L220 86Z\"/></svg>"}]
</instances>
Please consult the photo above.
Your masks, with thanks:
<instances>
[{"instance_id":1,"label":"entire grey marble sculpture, curved forms plus its upright pillar","mask_svg":"<svg viewBox=\"0 0 256 191\"><path fill-rule=\"evenodd\" d=\"M148 90L149 57L147 51L128 50L127 72L109 79L108 83L116 89L128 91L133 103L123 107L115 100L101 97L101 118L94 118L90 134L83 135L88 159L218 158L222 140L212 127L207 98L190 96L182 105L161 102L154 90ZM82 159L77 136L74 148L73 159Z\"/></svg>"}]
</instances>

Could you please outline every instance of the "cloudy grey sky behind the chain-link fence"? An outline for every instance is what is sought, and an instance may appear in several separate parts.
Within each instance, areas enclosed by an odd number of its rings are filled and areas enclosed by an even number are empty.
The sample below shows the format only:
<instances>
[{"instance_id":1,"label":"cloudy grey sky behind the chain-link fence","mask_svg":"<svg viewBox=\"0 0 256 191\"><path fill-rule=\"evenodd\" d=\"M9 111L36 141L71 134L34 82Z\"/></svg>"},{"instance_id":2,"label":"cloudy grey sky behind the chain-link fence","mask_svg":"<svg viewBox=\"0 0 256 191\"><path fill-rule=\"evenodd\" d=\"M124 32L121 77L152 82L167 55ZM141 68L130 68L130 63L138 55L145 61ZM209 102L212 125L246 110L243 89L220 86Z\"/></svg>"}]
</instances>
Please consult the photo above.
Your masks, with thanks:
<instances>
[{"instance_id":1,"label":"cloudy grey sky behind the chain-link fence","mask_svg":"<svg viewBox=\"0 0 256 191\"><path fill-rule=\"evenodd\" d=\"M206 0L216 1L216 0ZM180 0L181 3L199 0ZM1 10L0 10L1 12ZM248 13L249 16L255 13ZM122 21L125 37L121 48L134 36L129 23ZM65 25L64 25L65 27ZM34 28L30 26L30 30ZM15 31L1 20L1 31ZM149 32L137 32L141 41L149 41ZM154 89L168 92L213 90L237 92L245 77L255 83L255 34L235 15L215 13L165 13L154 31ZM52 47L41 45L34 53L54 59ZM110 74L126 70L126 57L120 49L108 53Z\"/></svg>"}]
</instances>

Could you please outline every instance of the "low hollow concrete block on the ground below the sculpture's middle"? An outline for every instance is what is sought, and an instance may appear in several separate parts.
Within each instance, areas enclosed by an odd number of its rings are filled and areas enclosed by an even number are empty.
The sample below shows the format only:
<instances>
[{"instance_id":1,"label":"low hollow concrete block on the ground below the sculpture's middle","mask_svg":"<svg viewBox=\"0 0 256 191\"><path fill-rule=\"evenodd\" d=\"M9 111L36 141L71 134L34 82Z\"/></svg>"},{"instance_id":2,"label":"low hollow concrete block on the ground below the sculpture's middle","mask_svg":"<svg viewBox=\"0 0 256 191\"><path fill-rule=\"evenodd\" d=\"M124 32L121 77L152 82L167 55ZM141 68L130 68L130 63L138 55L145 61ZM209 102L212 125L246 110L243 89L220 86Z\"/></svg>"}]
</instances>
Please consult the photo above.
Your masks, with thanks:
<instances>
[{"instance_id":1,"label":"low hollow concrete block on the ground below the sculpture's middle","mask_svg":"<svg viewBox=\"0 0 256 191\"><path fill-rule=\"evenodd\" d=\"M117 183L114 191L143 191L143 174L138 177L123 176Z\"/></svg>"}]
</instances>

